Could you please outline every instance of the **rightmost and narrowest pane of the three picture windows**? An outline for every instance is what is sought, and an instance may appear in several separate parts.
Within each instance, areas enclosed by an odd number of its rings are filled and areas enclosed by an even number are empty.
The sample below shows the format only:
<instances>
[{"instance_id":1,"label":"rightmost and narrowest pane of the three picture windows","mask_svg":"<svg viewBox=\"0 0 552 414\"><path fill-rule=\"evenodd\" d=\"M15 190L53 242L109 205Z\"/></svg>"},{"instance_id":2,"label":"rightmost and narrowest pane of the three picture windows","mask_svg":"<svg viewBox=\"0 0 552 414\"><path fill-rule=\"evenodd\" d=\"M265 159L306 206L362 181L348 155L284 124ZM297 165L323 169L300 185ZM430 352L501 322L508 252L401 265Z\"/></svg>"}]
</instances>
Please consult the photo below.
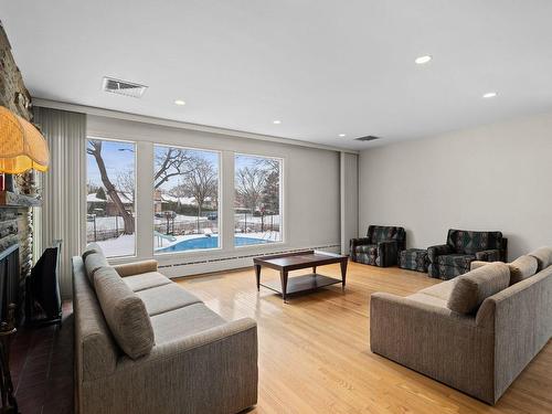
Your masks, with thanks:
<instances>
[{"instance_id":1,"label":"rightmost and narrowest pane of the three picture windows","mask_svg":"<svg viewBox=\"0 0 552 414\"><path fill-rule=\"evenodd\" d=\"M235 156L234 245L282 242L282 160Z\"/></svg>"}]
</instances>

